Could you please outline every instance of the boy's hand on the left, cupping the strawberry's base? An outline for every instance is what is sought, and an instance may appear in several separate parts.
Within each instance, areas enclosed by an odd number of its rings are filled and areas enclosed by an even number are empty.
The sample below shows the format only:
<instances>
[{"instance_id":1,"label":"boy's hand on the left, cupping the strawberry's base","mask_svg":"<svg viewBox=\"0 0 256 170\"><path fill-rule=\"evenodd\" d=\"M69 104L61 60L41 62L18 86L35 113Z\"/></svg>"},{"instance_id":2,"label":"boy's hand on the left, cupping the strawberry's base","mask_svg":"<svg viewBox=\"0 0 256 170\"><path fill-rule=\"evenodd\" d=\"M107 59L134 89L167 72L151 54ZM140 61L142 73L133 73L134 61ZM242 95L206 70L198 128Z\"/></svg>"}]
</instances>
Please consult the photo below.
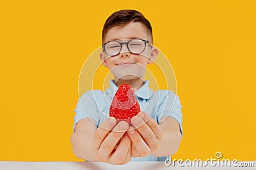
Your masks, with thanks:
<instances>
[{"instance_id":1,"label":"boy's hand on the left, cupping the strawberry's base","mask_svg":"<svg viewBox=\"0 0 256 170\"><path fill-rule=\"evenodd\" d=\"M92 147L100 162L126 164L131 160L131 139L125 134L128 127L125 121L116 125L115 118L110 117L97 128Z\"/></svg>"}]
</instances>

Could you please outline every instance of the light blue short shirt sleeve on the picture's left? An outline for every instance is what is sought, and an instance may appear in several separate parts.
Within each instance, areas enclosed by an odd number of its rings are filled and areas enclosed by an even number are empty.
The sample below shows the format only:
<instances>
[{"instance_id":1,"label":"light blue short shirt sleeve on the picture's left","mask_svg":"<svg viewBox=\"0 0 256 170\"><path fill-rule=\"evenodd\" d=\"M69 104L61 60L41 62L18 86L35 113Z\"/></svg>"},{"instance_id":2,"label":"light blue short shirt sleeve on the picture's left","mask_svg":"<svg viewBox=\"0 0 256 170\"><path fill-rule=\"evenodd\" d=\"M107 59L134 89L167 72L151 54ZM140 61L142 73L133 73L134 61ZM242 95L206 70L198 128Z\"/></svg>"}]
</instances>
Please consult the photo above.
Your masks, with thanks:
<instances>
[{"instance_id":1,"label":"light blue short shirt sleeve on the picture's left","mask_svg":"<svg viewBox=\"0 0 256 170\"><path fill-rule=\"evenodd\" d=\"M75 131L77 122L83 118L93 119L96 124L99 122L97 104L95 103L92 91L84 93L83 96L79 98L74 111L76 112L76 115L74 117L73 132Z\"/></svg>"}]
</instances>

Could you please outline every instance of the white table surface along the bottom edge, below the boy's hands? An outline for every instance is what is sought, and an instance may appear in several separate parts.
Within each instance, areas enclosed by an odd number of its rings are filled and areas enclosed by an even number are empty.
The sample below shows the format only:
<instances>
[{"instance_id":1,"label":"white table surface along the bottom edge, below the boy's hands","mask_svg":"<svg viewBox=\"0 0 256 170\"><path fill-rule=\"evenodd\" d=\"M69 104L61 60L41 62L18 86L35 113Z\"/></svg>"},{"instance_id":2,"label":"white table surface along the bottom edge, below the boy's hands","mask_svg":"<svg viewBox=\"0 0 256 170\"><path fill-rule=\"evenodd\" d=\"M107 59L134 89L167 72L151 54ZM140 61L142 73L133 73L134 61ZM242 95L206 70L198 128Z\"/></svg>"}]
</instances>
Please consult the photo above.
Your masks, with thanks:
<instances>
[{"instance_id":1,"label":"white table surface along the bottom edge, below the boy's hands","mask_svg":"<svg viewBox=\"0 0 256 170\"><path fill-rule=\"evenodd\" d=\"M125 165L113 166L101 162L12 162L0 161L0 170L104 170L104 169L118 169L118 170L166 170L166 169L256 169L256 161L253 162L253 167L180 167L180 166L165 166L164 162L129 162Z\"/></svg>"}]
</instances>

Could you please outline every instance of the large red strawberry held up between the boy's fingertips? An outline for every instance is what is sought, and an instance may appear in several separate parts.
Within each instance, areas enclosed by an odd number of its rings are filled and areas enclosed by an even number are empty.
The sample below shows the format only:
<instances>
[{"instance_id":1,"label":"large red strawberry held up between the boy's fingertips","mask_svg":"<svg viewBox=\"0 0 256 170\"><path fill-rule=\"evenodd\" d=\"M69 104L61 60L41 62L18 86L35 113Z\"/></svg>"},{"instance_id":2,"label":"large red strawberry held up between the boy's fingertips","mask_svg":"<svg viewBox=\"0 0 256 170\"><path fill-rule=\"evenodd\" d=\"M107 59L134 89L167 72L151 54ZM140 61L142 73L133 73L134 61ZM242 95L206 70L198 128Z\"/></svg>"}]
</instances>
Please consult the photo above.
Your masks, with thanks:
<instances>
[{"instance_id":1,"label":"large red strawberry held up between the boy's fingertips","mask_svg":"<svg viewBox=\"0 0 256 170\"><path fill-rule=\"evenodd\" d=\"M117 123L125 120L131 125L131 118L139 112L140 105L131 86L128 84L120 85L110 105L109 117L115 117Z\"/></svg>"}]
</instances>

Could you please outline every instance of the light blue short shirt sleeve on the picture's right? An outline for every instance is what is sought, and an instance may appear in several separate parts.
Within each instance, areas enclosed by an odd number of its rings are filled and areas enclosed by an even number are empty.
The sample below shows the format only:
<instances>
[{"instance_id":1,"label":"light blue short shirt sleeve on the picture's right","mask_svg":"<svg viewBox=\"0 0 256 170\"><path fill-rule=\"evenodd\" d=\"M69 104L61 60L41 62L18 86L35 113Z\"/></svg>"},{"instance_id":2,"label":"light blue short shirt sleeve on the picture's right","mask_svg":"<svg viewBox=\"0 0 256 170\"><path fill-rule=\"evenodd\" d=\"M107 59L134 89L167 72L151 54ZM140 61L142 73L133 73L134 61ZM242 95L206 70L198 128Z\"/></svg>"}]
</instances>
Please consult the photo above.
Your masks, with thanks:
<instances>
[{"instance_id":1,"label":"light blue short shirt sleeve on the picture's right","mask_svg":"<svg viewBox=\"0 0 256 170\"><path fill-rule=\"evenodd\" d=\"M160 120L161 117L173 117L177 122L179 122L180 132L183 135L182 131L182 113L181 113L181 104L179 96L174 94L172 91L160 90L159 91L159 107L157 109L157 119Z\"/></svg>"}]
</instances>

